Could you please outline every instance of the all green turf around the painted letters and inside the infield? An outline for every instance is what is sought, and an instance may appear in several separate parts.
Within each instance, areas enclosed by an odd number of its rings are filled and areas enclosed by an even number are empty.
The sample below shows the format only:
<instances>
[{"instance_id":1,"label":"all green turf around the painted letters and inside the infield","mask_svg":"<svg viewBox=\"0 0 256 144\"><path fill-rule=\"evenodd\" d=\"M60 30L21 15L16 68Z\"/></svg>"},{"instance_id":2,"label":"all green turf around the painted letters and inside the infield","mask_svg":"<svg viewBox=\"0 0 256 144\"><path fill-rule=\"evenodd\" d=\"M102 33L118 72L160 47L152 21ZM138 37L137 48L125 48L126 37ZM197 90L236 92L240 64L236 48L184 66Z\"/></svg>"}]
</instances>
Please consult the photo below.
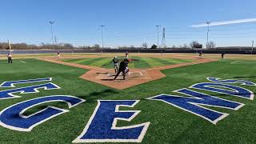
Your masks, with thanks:
<instances>
[{"instance_id":1,"label":"all green turf around the painted letters and inside the infield","mask_svg":"<svg viewBox=\"0 0 256 144\"><path fill-rule=\"evenodd\" d=\"M138 58L140 61L130 64L134 68L166 66L179 62L187 62L180 59L169 58ZM68 59L66 62L74 62L89 66L102 66L110 62L110 58L84 58ZM256 143L256 102L245 98L230 95L211 94L218 98L225 98L245 104L239 110L227 110L210 107L230 114L214 125L203 118L170 106L164 102L146 100L158 94L177 94L172 92L187 88L198 82L208 82L207 77L237 78L256 82L256 62L240 61L241 63L230 64L236 60L223 60L194 66L184 66L170 70L163 70L166 78L153 82L147 82L139 86L130 87L126 90L114 90L94 82L78 78L87 70L63 66L50 62L42 62L36 59L14 59L14 64L6 64L0 61L0 83L6 81L23 80L31 78L53 78L52 82L62 89L42 90L35 94L18 94L21 98L0 100L0 110L18 102L49 95L73 95L83 98L86 102L70 109L70 112L58 115L36 126L31 132L18 132L0 127L1 143L71 143L82 133L90 116L97 106L98 99L106 100L141 100L134 108L123 107L122 110L141 110L131 122L118 122L118 126L130 126L142 122L150 122L142 143ZM26 62L26 63L24 63ZM112 66L106 66L111 68ZM242 78L243 77L243 78ZM45 82L36 82L36 84ZM34 84L34 83L33 83ZM31 86L18 84L18 87ZM232 84L237 85L238 84ZM254 93L255 86L242 86ZM0 88L0 90L8 90ZM68 109L63 102L53 102L51 106ZM46 108L45 104L36 106L25 114L32 114Z\"/></svg>"}]
</instances>

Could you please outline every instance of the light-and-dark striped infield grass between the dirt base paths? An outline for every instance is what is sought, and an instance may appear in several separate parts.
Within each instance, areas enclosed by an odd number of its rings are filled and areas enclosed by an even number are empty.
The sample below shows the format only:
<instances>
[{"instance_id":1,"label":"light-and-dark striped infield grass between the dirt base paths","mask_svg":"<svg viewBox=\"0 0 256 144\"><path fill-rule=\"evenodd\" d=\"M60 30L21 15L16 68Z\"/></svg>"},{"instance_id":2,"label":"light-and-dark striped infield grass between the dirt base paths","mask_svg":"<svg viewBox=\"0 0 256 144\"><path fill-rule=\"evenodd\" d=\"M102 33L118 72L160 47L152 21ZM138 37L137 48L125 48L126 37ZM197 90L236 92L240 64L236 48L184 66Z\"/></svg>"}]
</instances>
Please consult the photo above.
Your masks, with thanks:
<instances>
[{"instance_id":1,"label":"light-and-dark striped infield grass between the dirt base paths","mask_svg":"<svg viewBox=\"0 0 256 144\"><path fill-rule=\"evenodd\" d=\"M174 58L154 58L154 57L138 57L131 56L130 58L137 59L137 61L130 62L130 68L153 68L158 66L168 66L184 62L193 62L194 60L174 59ZM113 68L114 65L110 64L111 57L101 58L75 58L75 59L63 59L64 62L78 63L86 66L98 66L106 69Z\"/></svg>"}]
</instances>

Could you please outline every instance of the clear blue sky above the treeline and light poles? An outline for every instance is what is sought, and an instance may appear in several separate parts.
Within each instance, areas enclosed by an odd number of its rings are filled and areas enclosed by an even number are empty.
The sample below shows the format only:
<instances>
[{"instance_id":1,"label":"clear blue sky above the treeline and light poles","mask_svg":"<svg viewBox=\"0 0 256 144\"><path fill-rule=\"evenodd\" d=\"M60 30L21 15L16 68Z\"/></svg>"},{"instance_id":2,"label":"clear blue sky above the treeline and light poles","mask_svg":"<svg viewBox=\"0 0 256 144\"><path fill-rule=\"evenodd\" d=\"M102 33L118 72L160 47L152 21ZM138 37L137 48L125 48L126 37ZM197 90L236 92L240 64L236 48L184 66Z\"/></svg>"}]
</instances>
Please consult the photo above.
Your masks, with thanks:
<instances>
[{"instance_id":1,"label":"clear blue sky above the treeline and light poles","mask_svg":"<svg viewBox=\"0 0 256 144\"><path fill-rule=\"evenodd\" d=\"M49 21L58 42L74 46L141 46L157 43L156 25L166 27L166 45L206 43L206 27L191 25L256 18L255 0L8 0L1 2L0 42L50 43ZM256 22L211 26L217 46L250 46ZM159 43L162 30L159 30Z\"/></svg>"}]
</instances>

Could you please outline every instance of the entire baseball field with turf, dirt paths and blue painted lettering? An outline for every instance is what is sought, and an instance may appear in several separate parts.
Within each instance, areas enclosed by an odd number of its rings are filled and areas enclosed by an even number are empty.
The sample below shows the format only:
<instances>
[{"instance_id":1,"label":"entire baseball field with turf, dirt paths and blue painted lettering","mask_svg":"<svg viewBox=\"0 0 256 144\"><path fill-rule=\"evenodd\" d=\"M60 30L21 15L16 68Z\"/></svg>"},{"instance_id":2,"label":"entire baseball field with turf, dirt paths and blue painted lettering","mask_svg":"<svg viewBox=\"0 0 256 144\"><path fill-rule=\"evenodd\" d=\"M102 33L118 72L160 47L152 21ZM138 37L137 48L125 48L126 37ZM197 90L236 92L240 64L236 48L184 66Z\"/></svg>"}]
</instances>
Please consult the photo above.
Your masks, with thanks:
<instances>
[{"instance_id":1,"label":"entire baseball field with turf, dirt paths and blue painted lettering","mask_svg":"<svg viewBox=\"0 0 256 144\"><path fill-rule=\"evenodd\" d=\"M115 55L1 56L1 143L256 143L254 55Z\"/></svg>"}]
</instances>

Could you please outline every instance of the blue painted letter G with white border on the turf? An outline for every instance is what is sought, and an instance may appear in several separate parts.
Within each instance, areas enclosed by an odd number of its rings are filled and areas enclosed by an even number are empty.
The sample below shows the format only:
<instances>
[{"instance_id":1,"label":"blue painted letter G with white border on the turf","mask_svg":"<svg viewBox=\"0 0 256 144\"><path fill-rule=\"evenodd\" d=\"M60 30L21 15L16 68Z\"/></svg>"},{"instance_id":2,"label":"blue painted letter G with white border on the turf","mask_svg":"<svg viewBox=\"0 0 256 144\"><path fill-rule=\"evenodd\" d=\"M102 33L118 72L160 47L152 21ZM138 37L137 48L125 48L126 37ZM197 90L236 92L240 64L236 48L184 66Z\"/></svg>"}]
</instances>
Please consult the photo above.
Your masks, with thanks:
<instances>
[{"instance_id":1,"label":"blue painted letter G with white border on the turf","mask_svg":"<svg viewBox=\"0 0 256 144\"><path fill-rule=\"evenodd\" d=\"M28 116L23 114L26 110L46 102L66 102L69 108L71 108L77 106L79 103L85 102L85 100L73 96L57 95L20 102L1 111L0 125L10 130L31 131L34 126L38 126L50 118L54 118L59 114L69 111L54 106L47 106L46 109L40 110L37 113ZM65 125L65 123L63 123L63 125Z\"/></svg>"}]
</instances>

